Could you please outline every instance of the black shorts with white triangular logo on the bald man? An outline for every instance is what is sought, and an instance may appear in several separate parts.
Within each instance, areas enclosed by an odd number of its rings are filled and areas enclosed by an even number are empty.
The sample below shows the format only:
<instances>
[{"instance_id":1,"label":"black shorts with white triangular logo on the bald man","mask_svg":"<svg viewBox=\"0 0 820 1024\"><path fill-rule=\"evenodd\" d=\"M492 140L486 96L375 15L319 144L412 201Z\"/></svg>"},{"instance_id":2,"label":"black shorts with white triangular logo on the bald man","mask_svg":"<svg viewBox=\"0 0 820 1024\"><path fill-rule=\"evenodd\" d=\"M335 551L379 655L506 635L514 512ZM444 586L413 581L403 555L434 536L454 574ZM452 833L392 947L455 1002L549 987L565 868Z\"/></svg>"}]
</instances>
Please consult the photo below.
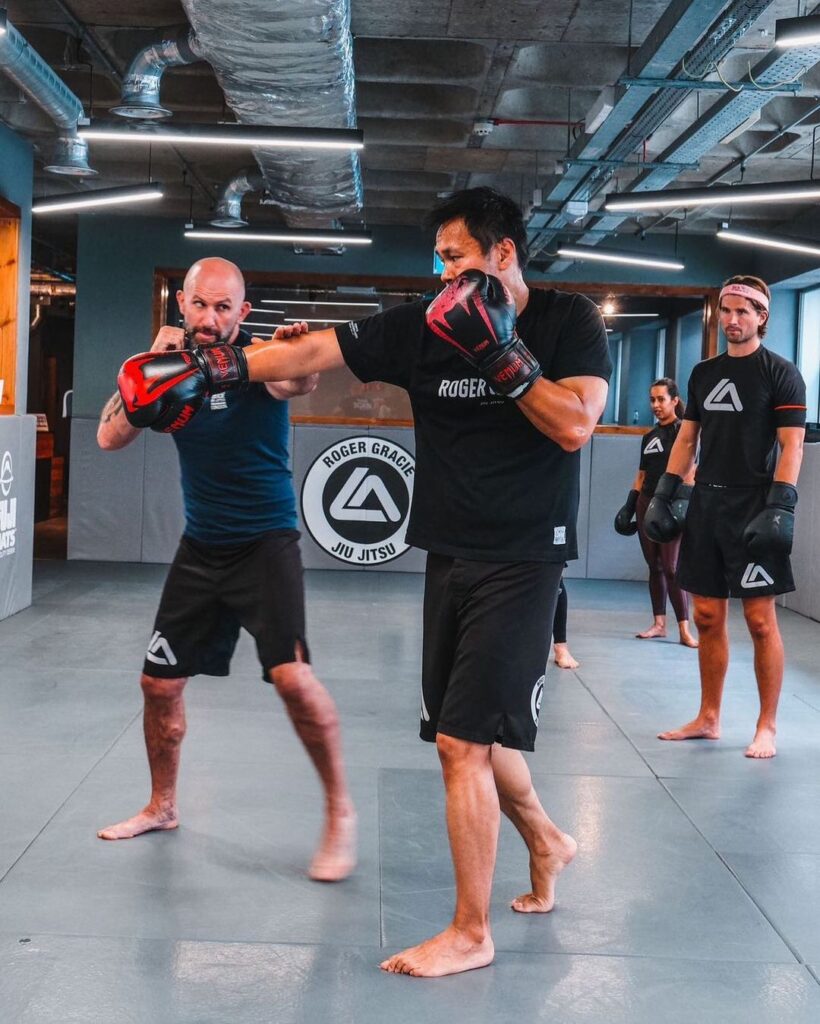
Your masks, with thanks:
<instances>
[{"instance_id":1,"label":"black shorts with white triangular logo on the bald man","mask_svg":"<svg viewBox=\"0 0 820 1024\"><path fill-rule=\"evenodd\" d=\"M262 678L309 660L299 531L277 529L247 544L205 545L183 537L165 581L142 671L176 679L226 676L240 627L256 640Z\"/></svg>"}]
</instances>

